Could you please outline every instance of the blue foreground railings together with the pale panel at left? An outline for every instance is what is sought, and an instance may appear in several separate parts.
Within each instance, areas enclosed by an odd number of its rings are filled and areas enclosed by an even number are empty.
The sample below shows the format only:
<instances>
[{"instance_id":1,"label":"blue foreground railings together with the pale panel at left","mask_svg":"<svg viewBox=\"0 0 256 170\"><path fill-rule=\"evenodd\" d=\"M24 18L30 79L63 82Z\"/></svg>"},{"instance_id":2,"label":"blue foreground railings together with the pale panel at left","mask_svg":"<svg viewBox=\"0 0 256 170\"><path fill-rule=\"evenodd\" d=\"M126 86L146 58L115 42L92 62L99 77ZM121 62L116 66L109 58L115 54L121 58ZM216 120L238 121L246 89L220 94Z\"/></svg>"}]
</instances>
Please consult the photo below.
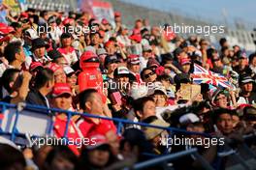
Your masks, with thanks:
<instances>
[{"instance_id":1,"label":"blue foreground railings together with the pale panel at left","mask_svg":"<svg viewBox=\"0 0 256 170\"><path fill-rule=\"evenodd\" d=\"M147 128L162 128L169 131L170 134L175 134L175 133L182 133L185 135L197 134L197 135L210 137L208 133L190 132L180 128L164 128L164 127L153 126L153 125L140 123L140 122L136 123L136 122L119 119L119 118L102 117L102 116L92 115L88 113L72 112L69 110L48 108L40 105L31 105L26 103L18 103L16 105L16 104L10 104L6 102L0 102L0 110L1 110L0 136L1 135L5 136L6 138L12 140L18 145L26 145L27 141L29 140L29 137L36 138L36 137L42 137L46 135L52 136L53 125L54 125L53 118L55 113L65 113L67 115L67 123L65 127L65 132L63 135L63 138L66 140L68 140L67 138L68 125L70 124L71 118L74 115L81 115L84 117L99 118L99 119L113 121L117 123L116 125L117 125L118 134L121 134L123 125L132 124L132 125L147 127ZM41 127L42 125L39 125L41 123L44 124L43 127ZM34 131L39 130L39 132L38 131L34 132L33 130ZM255 154L246 145L244 145L244 147L246 147L245 149L250 155L254 156L254 158L256 157ZM145 167L148 167L149 165L170 161L180 156L191 156L191 155L195 156L202 163L205 169L213 169L209 165L208 161L203 156L199 155L196 148L192 148L190 150L186 150L186 151L182 151L174 154L168 154L163 156L152 156L150 160L136 164L134 166L134 169L143 169ZM240 164L243 167L248 168L248 165L246 164L245 160L243 160L237 152L230 153L227 156L231 156L231 155L236 156L238 162L240 162Z\"/></svg>"}]
</instances>

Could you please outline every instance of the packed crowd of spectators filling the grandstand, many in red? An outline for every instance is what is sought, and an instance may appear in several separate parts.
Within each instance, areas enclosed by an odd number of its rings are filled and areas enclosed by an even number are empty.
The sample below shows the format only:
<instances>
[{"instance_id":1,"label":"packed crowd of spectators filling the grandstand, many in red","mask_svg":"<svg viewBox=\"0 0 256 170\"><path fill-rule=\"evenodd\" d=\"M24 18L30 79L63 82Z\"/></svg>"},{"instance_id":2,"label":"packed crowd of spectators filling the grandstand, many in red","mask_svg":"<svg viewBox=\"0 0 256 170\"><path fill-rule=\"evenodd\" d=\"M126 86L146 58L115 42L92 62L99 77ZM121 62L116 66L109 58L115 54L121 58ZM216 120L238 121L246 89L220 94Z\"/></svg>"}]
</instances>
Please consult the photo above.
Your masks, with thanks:
<instances>
[{"instance_id":1,"label":"packed crowd of spectators filling the grandstand, many in red","mask_svg":"<svg viewBox=\"0 0 256 170\"><path fill-rule=\"evenodd\" d=\"M75 115L67 136L87 138L87 145L17 149L8 141L0 144L1 168L122 169L151 158L144 153L161 156L193 147L213 167L225 168L228 160L219 156L230 151L225 146L255 147L255 138L242 137L256 128L255 52L247 55L225 38L219 41L220 47L196 35L184 39L149 25L146 19L126 26L123 17L115 12L112 23L87 13L34 10L9 16L8 24L0 23L1 101L200 132L223 138L224 146L167 147L167 130L129 124L118 134L116 122ZM195 64L225 75L232 88L212 90L212 84L202 83L200 93L185 99L182 87L195 84ZM54 114L55 138L63 137L66 124L65 113ZM206 138L188 133L176 133L176 137ZM202 169L193 156L168 166Z\"/></svg>"}]
</instances>

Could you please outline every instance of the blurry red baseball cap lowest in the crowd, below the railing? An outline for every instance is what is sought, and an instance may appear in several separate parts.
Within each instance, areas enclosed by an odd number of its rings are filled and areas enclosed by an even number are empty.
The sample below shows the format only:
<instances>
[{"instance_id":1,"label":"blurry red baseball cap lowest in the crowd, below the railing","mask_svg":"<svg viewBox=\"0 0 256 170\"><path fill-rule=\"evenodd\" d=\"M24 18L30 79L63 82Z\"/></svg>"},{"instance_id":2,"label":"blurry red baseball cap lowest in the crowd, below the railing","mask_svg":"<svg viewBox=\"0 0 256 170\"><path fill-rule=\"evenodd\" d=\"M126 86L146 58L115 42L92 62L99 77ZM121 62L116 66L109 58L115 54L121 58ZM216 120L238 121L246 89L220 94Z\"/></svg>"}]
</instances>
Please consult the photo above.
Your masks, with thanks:
<instances>
[{"instance_id":1,"label":"blurry red baseball cap lowest in the crowd, below the railing","mask_svg":"<svg viewBox=\"0 0 256 170\"><path fill-rule=\"evenodd\" d=\"M86 145L87 150L95 150L103 146L107 148L110 147L108 139L102 134L93 134L93 135L90 135L89 138L90 138L89 140L90 142L88 145Z\"/></svg>"}]
</instances>

